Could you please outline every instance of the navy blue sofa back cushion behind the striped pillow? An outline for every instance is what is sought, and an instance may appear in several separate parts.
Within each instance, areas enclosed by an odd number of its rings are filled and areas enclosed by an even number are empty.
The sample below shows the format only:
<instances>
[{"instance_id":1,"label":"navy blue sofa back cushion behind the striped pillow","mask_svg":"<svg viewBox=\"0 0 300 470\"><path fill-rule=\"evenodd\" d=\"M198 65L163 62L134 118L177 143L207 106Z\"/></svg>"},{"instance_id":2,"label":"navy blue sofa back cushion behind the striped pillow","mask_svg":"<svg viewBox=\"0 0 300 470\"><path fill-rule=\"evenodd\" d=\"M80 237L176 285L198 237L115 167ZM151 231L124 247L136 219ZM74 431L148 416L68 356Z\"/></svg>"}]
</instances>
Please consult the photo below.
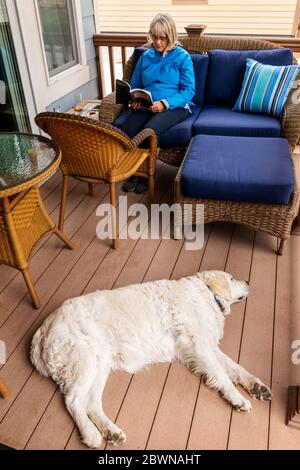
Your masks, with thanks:
<instances>
[{"instance_id":1,"label":"navy blue sofa back cushion behind the striped pillow","mask_svg":"<svg viewBox=\"0 0 300 470\"><path fill-rule=\"evenodd\" d=\"M226 51L214 49L208 53L209 67L206 80L205 103L233 106L242 88L246 59L268 65L290 65L290 49Z\"/></svg>"}]
</instances>

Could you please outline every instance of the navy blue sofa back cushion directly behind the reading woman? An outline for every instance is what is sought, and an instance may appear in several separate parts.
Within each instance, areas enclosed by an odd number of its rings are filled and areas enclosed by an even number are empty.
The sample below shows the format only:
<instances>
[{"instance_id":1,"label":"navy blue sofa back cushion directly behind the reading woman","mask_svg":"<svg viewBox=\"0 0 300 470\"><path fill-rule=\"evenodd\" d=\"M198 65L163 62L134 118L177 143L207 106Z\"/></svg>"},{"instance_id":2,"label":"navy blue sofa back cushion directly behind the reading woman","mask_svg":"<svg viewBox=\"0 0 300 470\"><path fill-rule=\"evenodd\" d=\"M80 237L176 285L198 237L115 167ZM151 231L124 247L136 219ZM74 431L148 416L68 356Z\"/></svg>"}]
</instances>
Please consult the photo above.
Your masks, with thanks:
<instances>
[{"instance_id":1,"label":"navy blue sofa back cushion directly behind the reading woman","mask_svg":"<svg viewBox=\"0 0 300 470\"><path fill-rule=\"evenodd\" d=\"M139 58L147 50L146 47L137 47L133 53L133 70ZM208 70L208 54L190 54L194 66L195 73L195 95L193 103L203 106L204 104L204 90Z\"/></svg>"}]
</instances>

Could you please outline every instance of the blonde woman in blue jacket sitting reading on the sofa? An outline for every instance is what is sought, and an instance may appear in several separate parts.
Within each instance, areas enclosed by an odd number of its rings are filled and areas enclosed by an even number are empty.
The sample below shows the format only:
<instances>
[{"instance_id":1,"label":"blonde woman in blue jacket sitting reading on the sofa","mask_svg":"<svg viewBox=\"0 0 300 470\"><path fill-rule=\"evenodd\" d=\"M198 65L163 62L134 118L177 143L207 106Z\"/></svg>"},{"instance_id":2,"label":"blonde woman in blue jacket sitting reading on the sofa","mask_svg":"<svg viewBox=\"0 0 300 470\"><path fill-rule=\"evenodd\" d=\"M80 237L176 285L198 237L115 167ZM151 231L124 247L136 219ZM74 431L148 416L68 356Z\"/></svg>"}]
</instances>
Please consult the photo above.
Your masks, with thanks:
<instances>
[{"instance_id":1,"label":"blonde woman in blue jacket sitting reading on the sofa","mask_svg":"<svg viewBox=\"0 0 300 470\"><path fill-rule=\"evenodd\" d=\"M189 53L177 41L174 20L167 13L158 14L151 22L148 34L151 47L140 57L131 79L131 88L144 88L152 94L150 108L131 104L128 116L119 127L133 138L142 129L153 129L158 138L169 127L186 119L189 103L195 94L194 68ZM143 193L148 180L132 176L125 191Z\"/></svg>"}]
</instances>

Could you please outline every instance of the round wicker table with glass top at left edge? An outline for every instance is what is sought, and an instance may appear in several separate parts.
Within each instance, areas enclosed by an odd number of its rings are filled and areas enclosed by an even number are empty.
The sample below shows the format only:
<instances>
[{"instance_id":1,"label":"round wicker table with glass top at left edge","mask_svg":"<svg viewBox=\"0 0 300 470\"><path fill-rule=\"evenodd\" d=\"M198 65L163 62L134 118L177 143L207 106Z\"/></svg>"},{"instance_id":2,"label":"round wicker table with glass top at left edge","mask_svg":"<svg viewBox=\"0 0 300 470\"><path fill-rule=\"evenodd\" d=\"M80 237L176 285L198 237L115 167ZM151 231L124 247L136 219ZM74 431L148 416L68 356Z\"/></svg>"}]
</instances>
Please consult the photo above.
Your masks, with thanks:
<instances>
[{"instance_id":1,"label":"round wicker table with glass top at left edge","mask_svg":"<svg viewBox=\"0 0 300 470\"><path fill-rule=\"evenodd\" d=\"M34 247L55 233L73 249L49 217L39 190L60 161L60 150L45 137L0 133L0 263L22 272L35 308L40 301L28 269Z\"/></svg>"}]
</instances>

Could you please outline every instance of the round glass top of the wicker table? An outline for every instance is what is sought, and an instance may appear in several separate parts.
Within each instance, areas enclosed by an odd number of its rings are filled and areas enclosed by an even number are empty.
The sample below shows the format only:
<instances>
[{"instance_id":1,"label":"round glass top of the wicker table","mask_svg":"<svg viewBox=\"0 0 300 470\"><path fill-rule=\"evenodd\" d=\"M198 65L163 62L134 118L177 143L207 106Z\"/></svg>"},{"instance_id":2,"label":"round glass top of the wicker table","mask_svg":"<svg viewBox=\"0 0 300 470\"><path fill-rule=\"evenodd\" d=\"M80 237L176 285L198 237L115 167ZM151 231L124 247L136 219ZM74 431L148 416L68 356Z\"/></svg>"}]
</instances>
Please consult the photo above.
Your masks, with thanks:
<instances>
[{"instance_id":1,"label":"round glass top of the wicker table","mask_svg":"<svg viewBox=\"0 0 300 470\"><path fill-rule=\"evenodd\" d=\"M0 191L41 175L58 158L58 149L45 137L0 133Z\"/></svg>"}]
</instances>

